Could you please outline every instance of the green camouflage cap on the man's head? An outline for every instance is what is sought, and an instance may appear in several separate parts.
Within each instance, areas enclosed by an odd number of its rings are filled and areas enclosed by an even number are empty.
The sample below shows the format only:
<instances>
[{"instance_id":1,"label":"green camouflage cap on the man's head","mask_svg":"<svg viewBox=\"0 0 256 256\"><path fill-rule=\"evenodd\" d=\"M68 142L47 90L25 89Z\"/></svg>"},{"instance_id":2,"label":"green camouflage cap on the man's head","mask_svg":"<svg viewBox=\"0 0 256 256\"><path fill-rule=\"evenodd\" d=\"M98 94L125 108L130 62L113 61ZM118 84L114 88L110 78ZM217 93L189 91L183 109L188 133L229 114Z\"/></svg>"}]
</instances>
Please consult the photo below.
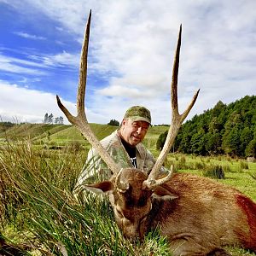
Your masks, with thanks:
<instances>
[{"instance_id":1,"label":"green camouflage cap on the man's head","mask_svg":"<svg viewBox=\"0 0 256 256\"><path fill-rule=\"evenodd\" d=\"M131 119L133 122L145 121L148 124L151 124L150 111L147 108L141 106L133 106L131 108L128 108L124 116L124 119L127 118Z\"/></svg>"}]
</instances>

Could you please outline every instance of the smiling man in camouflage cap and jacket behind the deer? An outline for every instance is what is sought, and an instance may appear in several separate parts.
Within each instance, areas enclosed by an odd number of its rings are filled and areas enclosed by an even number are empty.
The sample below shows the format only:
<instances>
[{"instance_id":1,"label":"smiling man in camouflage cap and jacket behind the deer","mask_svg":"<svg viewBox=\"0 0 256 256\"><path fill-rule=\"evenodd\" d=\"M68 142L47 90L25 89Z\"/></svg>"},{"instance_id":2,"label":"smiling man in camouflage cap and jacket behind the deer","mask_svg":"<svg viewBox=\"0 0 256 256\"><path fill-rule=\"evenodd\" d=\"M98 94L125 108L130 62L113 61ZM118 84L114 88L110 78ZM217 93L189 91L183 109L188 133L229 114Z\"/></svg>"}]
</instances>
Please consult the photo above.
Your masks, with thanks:
<instances>
[{"instance_id":1,"label":"smiling man in camouflage cap and jacket behind the deer","mask_svg":"<svg viewBox=\"0 0 256 256\"><path fill-rule=\"evenodd\" d=\"M146 174L152 170L155 162L154 157L142 143L150 125L149 110L141 106L133 106L125 112L119 130L113 131L108 137L102 139L102 146L106 148L120 169L137 168ZM161 172L167 173L167 170L162 167ZM96 150L91 148L73 194L77 196L83 192L84 183L95 183L109 179L111 175L108 166Z\"/></svg>"}]
</instances>

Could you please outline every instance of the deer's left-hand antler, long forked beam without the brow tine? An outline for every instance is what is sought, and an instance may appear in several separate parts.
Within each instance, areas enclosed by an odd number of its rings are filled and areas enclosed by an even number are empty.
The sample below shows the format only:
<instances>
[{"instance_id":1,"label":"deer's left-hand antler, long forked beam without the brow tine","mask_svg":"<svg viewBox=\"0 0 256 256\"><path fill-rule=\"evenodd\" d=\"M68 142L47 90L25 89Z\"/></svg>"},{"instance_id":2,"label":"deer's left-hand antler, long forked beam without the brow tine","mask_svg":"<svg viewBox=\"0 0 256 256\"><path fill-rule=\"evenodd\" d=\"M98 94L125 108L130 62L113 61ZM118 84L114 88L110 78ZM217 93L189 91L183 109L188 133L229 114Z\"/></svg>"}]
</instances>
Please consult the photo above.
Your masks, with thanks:
<instances>
[{"instance_id":1,"label":"deer's left-hand antler, long forked beam without the brow tine","mask_svg":"<svg viewBox=\"0 0 256 256\"><path fill-rule=\"evenodd\" d=\"M77 116L73 116L67 108L61 103L59 96L56 96L57 103L61 111L66 115L69 122L75 125L79 131L82 132L84 137L89 141L91 146L96 149L98 154L105 161L108 168L115 174L119 172L119 166L113 161L112 157L108 154L107 150L102 147L102 144L98 141L93 131L90 129L90 125L87 121L86 114L84 111L84 98L85 98L85 87L86 87L86 77L87 77L87 55L88 55L88 45L90 37L90 15L87 21L86 30L84 33L84 43L81 50L81 62L80 62L80 73L79 73L79 88L77 95Z\"/></svg>"}]
</instances>

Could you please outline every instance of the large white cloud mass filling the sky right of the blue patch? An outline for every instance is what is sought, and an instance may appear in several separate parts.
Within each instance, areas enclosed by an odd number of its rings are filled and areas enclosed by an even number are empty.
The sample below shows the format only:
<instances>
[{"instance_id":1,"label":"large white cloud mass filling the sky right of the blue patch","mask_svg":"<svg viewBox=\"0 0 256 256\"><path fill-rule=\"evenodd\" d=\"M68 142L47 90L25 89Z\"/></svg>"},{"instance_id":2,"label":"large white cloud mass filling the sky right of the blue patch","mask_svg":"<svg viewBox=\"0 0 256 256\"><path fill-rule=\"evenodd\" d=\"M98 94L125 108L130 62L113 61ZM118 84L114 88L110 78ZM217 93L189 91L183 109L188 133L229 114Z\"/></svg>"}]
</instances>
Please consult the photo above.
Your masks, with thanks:
<instances>
[{"instance_id":1,"label":"large white cloud mass filling the sky right of the blue patch","mask_svg":"<svg viewBox=\"0 0 256 256\"><path fill-rule=\"evenodd\" d=\"M94 94L88 107L94 122L121 119L125 108L134 104L151 109L155 124L170 122L172 58L181 23L181 110L198 88L201 93L190 117L213 108L219 100L229 103L255 94L255 1L26 0L21 4L13 0L9 4L57 20L62 25L58 30L73 33L79 42L92 9L89 71L112 75L107 87L91 88ZM79 66L79 56L65 51L35 58L45 66ZM5 68L10 70L11 64Z\"/></svg>"}]
</instances>

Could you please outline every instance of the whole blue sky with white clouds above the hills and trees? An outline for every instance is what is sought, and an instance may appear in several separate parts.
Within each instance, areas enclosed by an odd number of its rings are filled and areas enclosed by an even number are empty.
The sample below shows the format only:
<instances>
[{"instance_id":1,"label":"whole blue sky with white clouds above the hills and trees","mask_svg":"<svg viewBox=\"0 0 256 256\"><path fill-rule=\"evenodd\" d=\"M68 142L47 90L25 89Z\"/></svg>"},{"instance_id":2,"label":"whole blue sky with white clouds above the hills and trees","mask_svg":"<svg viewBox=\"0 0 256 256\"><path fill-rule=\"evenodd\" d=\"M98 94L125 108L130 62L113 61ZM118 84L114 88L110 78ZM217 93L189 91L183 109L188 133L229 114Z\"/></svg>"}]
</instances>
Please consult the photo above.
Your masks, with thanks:
<instances>
[{"instance_id":1,"label":"whole blue sky with white clouds above the hills and trees","mask_svg":"<svg viewBox=\"0 0 256 256\"><path fill-rule=\"evenodd\" d=\"M41 123L76 114L79 55L92 11L85 112L122 120L142 105L171 123L172 62L183 26L178 76L188 119L256 93L255 0L0 0L0 119ZM68 124L67 119L65 123Z\"/></svg>"}]
</instances>

